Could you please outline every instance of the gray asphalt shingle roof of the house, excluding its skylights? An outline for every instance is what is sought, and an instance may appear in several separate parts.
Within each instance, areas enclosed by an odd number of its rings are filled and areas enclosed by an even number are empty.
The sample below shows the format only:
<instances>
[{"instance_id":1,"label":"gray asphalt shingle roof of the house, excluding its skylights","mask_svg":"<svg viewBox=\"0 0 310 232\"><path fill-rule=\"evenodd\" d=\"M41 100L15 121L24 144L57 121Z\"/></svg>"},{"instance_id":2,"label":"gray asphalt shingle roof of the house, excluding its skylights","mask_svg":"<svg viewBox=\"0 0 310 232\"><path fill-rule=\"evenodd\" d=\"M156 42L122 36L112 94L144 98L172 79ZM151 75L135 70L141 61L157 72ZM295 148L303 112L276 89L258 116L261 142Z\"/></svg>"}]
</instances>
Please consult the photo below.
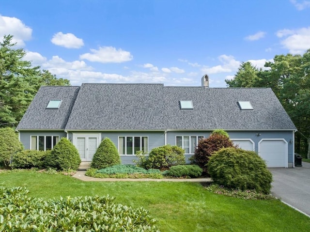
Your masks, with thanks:
<instances>
[{"instance_id":1,"label":"gray asphalt shingle roof of the house, excluding its skylights","mask_svg":"<svg viewBox=\"0 0 310 232\"><path fill-rule=\"evenodd\" d=\"M53 100L51 96L66 99L62 102L66 102L66 110L59 109L59 114L55 111L51 115L45 109L48 101ZM191 100L194 109L181 110L180 100ZM250 101L253 110L240 110L238 101ZM296 129L270 88L164 87L162 84L42 87L17 129L26 127L61 127L68 131Z\"/></svg>"}]
</instances>

